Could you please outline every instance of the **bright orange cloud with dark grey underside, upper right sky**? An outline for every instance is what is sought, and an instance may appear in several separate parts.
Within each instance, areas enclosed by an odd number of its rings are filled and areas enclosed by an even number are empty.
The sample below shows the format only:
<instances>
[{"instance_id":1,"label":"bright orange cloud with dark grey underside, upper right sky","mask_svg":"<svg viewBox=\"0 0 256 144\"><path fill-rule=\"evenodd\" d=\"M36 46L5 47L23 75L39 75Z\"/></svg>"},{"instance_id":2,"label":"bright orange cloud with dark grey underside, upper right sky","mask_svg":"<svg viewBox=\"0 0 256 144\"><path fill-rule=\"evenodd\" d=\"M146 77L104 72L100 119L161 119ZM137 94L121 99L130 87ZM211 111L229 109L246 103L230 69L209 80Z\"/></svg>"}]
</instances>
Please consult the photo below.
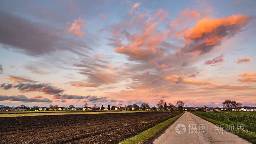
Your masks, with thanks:
<instances>
[{"instance_id":1,"label":"bright orange cloud with dark grey underside, upper right sky","mask_svg":"<svg viewBox=\"0 0 256 144\"><path fill-rule=\"evenodd\" d=\"M195 27L182 31L187 44L176 54L209 52L220 45L225 38L238 33L249 20L249 17L240 14L226 18L199 20Z\"/></svg>"}]
</instances>

